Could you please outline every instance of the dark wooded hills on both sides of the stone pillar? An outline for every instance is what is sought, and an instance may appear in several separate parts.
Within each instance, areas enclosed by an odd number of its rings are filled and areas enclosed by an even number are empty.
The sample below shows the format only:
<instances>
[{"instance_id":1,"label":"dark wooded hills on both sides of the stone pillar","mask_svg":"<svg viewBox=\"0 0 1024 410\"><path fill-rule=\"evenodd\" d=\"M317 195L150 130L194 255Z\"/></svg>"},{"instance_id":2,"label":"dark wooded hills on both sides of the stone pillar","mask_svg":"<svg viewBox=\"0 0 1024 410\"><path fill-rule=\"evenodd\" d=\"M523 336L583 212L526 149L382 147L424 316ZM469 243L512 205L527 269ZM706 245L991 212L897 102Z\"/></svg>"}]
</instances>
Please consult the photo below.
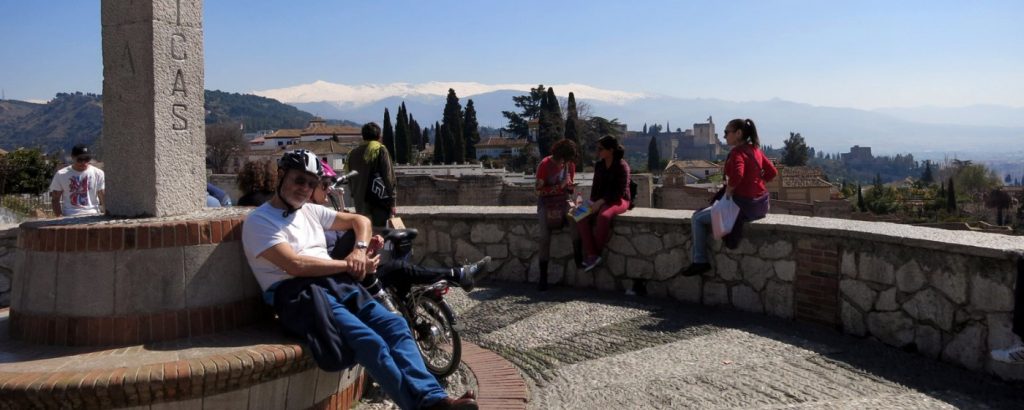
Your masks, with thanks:
<instances>
[{"instance_id":1,"label":"dark wooded hills on both sides of the stone pillar","mask_svg":"<svg viewBox=\"0 0 1024 410\"><path fill-rule=\"evenodd\" d=\"M275 99L223 91L206 91L206 122L242 122L247 130L303 128L312 114ZM77 144L91 145L102 155L96 141L103 130L100 95L58 93L46 104L14 99L0 100L0 149L41 148L44 152L65 150Z\"/></svg>"}]
</instances>

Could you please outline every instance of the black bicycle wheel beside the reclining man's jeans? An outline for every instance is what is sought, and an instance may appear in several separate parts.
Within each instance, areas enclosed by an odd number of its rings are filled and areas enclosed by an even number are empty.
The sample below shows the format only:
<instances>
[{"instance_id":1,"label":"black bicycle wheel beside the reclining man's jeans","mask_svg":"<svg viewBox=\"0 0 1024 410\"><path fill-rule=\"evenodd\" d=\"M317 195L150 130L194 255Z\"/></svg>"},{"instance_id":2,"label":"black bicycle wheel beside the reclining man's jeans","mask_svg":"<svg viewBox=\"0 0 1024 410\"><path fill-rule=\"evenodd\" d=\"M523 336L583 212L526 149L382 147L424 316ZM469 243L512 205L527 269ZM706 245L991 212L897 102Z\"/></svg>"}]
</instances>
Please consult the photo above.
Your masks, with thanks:
<instances>
[{"instance_id":1,"label":"black bicycle wheel beside the reclining man's jeans","mask_svg":"<svg viewBox=\"0 0 1024 410\"><path fill-rule=\"evenodd\" d=\"M416 344L430 373L443 378L459 368L462 339L453 327L455 316L443 300L420 297L416 301Z\"/></svg>"}]
</instances>

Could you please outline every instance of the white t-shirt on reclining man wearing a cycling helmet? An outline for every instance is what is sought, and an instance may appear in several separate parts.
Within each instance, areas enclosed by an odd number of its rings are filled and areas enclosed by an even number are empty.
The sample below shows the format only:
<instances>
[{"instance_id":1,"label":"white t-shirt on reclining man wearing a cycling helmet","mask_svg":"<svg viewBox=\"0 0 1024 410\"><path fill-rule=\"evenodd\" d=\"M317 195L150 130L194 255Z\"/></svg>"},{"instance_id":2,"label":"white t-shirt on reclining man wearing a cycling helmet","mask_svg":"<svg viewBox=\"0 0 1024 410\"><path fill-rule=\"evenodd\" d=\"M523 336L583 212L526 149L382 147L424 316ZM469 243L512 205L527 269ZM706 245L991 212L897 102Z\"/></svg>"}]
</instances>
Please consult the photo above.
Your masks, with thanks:
<instances>
[{"instance_id":1,"label":"white t-shirt on reclining man wearing a cycling helmet","mask_svg":"<svg viewBox=\"0 0 1024 410\"><path fill-rule=\"evenodd\" d=\"M267 201L254 209L242 225L242 246L246 251L246 259L249 259L249 266L264 291L276 282L294 278L259 256L276 244L287 242L300 255L331 258L324 230L334 224L337 211L307 203L287 218L282 216L283 212L283 209L270 206Z\"/></svg>"}]
</instances>

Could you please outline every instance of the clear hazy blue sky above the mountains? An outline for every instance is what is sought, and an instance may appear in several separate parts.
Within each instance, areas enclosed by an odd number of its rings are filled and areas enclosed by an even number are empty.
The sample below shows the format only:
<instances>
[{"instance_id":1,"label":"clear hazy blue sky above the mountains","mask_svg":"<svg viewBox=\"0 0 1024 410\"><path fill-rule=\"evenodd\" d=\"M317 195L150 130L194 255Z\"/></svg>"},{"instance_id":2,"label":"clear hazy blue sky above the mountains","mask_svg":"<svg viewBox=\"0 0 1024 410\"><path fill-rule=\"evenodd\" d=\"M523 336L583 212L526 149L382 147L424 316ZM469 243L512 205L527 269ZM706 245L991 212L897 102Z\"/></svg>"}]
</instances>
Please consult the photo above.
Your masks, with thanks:
<instances>
[{"instance_id":1,"label":"clear hazy blue sky above the mountains","mask_svg":"<svg viewBox=\"0 0 1024 410\"><path fill-rule=\"evenodd\" d=\"M206 87L583 83L871 109L1024 107L1024 1L207 0ZM99 2L0 0L0 88L101 90Z\"/></svg>"}]
</instances>

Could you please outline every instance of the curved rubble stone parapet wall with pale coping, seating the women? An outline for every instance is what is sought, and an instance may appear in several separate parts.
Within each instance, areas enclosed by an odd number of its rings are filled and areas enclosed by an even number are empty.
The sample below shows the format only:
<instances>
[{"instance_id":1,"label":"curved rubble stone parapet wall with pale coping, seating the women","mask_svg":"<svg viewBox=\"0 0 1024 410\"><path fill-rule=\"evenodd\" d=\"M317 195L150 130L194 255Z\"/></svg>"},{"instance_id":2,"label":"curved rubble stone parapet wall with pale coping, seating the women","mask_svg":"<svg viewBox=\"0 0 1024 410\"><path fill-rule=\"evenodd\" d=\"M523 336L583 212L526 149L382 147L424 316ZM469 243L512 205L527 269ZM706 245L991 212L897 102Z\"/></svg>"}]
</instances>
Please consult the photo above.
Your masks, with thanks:
<instances>
[{"instance_id":1,"label":"curved rubble stone parapet wall with pale coping, seating the women","mask_svg":"<svg viewBox=\"0 0 1024 410\"><path fill-rule=\"evenodd\" d=\"M535 282L532 207L407 207L420 230L416 259L451 265L484 254L486 277ZM1013 288L1024 238L885 222L769 215L736 249L713 241L715 269L680 276L690 259L691 211L620 216L606 261L577 269L567 233L552 241L551 281L722 305L818 323L1009 378L1024 369L988 358L1011 343Z\"/></svg>"}]
</instances>

